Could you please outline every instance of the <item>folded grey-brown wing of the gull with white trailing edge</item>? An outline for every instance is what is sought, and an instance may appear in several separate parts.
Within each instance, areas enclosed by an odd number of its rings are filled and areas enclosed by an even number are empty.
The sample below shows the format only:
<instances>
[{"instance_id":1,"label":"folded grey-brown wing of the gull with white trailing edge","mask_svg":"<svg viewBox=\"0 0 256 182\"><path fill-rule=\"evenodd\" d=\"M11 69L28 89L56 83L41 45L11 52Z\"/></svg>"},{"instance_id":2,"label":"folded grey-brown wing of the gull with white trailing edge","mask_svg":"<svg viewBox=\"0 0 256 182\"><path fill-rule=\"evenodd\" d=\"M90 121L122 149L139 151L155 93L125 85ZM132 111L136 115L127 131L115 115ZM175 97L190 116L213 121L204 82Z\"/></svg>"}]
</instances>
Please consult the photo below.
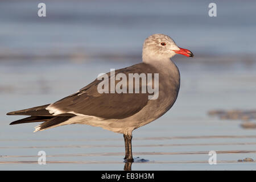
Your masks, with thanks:
<instances>
[{"instance_id":1,"label":"folded grey-brown wing of the gull with white trailing edge","mask_svg":"<svg viewBox=\"0 0 256 182\"><path fill-rule=\"evenodd\" d=\"M118 69L117 73L124 73L129 78L129 73L152 73L154 68L150 65L140 63L131 67ZM110 72L106 73L110 82ZM99 93L97 90L101 80L94 80L89 85L80 89L79 92L65 97L50 106L47 109L52 114L72 113L76 115L90 115L104 119L122 119L138 113L148 102L148 93ZM115 85L119 81L115 81ZM128 83L127 80L127 88ZM110 85L110 84L109 84ZM140 82L140 90L141 90ZM110 88L110 86L109 86ZM127 89L128 90L128 89Z\"/></svg>"}]
</instances>

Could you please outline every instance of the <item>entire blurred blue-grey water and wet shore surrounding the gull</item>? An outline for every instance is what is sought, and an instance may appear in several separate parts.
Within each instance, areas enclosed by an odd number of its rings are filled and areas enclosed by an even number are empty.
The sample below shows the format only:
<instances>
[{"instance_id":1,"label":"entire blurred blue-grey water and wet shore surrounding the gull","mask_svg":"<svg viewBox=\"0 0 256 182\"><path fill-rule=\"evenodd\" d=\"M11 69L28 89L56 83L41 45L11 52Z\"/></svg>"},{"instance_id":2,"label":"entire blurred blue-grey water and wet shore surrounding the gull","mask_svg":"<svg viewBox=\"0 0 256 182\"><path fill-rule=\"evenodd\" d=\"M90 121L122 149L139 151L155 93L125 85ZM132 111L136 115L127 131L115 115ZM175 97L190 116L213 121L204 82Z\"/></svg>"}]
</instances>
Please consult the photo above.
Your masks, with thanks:
<instances>
[{"instance_id":1,"label":"entire blurred blue-grey water and wet shore surrounding the gull","mask_svg":"<svg viewBox=\"0 0 256 182\"><path fill-rule=\"evenodd\" d=\"M0 1L0 169L122 170L123 138L91 126L32 133L13 110L57 101L110 68L140 63L147 36L171 36L181 88L163 117L134 131L132 169L256 169L255 1ZM208 15L209 3L217 17ZM38 151L49 165L38 165ZM208 152L217 152L217 165ZM238 162L250 158L254 162ZM55 163L55 162L62 163ZM50 163L52 162L52 163Z\"/></svg>"}]
</instances>

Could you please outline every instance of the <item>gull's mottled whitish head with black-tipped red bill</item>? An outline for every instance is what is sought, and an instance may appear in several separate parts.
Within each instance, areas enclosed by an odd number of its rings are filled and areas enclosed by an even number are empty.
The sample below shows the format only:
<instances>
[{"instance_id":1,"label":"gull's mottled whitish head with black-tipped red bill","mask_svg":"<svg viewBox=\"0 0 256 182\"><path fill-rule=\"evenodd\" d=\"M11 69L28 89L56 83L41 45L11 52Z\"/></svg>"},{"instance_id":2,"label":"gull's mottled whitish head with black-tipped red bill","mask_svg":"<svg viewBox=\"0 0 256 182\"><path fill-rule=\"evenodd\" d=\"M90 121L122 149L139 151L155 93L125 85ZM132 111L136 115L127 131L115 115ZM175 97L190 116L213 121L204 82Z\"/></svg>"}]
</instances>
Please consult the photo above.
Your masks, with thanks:
<instances>
[{"instance_id":1,"label":"gull's mottled whitish head with black-tipped red bill","mask_svg":"<svg viewBox=\"0 0 256 182\"><path fill-rule=\"evenodd\" d=\"M187 57L193 57L191 51L178 47L170 36L153 34L144 41L142 60L143 62L148 62L150 60L166 60L177 53Z\"/></svg>"}]
</instances>

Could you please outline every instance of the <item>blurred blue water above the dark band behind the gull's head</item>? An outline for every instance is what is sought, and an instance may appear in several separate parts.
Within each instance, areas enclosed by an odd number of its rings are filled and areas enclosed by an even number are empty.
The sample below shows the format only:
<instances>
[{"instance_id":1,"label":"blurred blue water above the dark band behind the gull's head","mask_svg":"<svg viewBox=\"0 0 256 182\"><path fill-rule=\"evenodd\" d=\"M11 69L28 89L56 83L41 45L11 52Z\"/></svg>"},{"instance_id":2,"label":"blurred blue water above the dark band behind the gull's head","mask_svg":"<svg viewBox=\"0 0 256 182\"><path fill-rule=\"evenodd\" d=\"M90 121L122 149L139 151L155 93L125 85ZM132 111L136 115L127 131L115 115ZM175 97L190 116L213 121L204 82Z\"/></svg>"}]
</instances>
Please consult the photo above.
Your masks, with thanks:
<instances>
[{"instance_id":1,"label":"blurred blue water above the dark band behind the gull's head","mask_svg":"<svg viewBox=\"0 0 256 182\"><path fill-rule=\"evenodd\" d=\"M39 1L0 2L2 56L141 53L144 39L155 33L196 55L256 50L255 1L214 1L214 18L204 0L44 2L46 18L36 14Z\"/></svg>"}]
</instances>

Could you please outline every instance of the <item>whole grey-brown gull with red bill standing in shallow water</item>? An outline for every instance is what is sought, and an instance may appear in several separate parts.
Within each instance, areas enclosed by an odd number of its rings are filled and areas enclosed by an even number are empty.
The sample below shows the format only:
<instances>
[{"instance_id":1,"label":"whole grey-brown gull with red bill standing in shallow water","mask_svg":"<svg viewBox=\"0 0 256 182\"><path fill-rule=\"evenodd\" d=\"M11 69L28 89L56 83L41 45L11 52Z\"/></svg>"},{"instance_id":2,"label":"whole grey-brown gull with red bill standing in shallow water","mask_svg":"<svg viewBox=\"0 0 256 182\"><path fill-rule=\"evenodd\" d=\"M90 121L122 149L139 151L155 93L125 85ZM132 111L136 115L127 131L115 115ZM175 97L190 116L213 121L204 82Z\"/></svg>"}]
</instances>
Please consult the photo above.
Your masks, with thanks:
<instances>
[{"instance_id":1,"label":"whole grey-brown gull with red bill standing in shallow water","mask_svg":"<svg viewBox=\"0 0 256 182\"><path fill-rule=\"evenodd\" d=\"M179 69L170 60L175 54L193 57L191 51L179 48L169 36L154 34L143 44L143 63L118 69L115 73L159 74L159 83L152 80L152 85L158 86L158 97L148 99L150 93L99 93L101 80L94 80L79 92L65 97L53 104L32 107L7 113L7 115L30 115L14 121L10 125L29 122L43 122L35 128L42 131L56 126L69 124L86 124L100 126L106 130L122 133L125 139L125 159L133 161L131 152L132 131L154 121L166 113L176 101L180 88ZM107 73L111 80L111 73ZM158 80L156 80L158 81ZM115 85L118 81L115 80ZM149 86L150 82L147 82ZM135 85L136 86L136 85ZM134 88L135 88L134 86ZM142 83L139 89L142 89ZM111 87L111 86L110 86ZM129 87L129 81L127 81ZM128 89L128 88L126 88Z\"/></svg>"}]
</instances>

